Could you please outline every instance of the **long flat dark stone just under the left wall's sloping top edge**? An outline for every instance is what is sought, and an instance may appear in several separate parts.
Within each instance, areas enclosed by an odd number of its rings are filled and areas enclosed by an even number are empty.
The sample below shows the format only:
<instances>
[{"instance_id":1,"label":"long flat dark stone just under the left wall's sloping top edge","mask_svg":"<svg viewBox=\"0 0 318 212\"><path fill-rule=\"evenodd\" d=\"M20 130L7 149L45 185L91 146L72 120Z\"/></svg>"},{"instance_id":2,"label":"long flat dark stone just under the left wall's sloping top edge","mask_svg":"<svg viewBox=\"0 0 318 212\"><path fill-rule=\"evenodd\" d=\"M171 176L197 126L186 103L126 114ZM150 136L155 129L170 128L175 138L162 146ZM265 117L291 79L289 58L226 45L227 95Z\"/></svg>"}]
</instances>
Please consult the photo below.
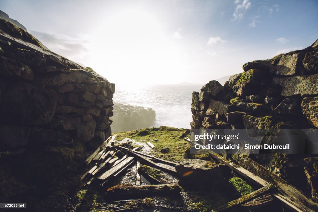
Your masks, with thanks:
<instances>
[{"instance_id":1,"label":"long flat dark stone just under the left wall's sloping top edge","mask_svg":"<svg viewBox=\"0 0 318 212\"><path fill-rule=\"evenodd\" d=\"M9 49L5 51L5 56L13 60L18 60L28 66L45 66L46 64L45 54L38 51Z\"/></svg>"}]
</instances>

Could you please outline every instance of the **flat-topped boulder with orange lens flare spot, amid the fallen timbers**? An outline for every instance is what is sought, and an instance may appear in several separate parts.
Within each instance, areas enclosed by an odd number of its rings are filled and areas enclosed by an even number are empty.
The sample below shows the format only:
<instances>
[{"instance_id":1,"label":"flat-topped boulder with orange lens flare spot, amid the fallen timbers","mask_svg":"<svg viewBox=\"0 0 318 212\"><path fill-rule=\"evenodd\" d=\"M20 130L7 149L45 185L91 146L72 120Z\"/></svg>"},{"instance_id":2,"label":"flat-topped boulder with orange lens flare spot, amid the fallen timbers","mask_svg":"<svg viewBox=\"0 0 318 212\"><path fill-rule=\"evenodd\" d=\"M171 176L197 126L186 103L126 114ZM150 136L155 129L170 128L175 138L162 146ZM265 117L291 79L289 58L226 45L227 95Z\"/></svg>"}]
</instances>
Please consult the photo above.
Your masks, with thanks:
<instances>
[{"instance_id":1,"label":"flat-topped boulder with orange lens flare spot, amid the fallen timbers","mask_svg":"<svg viewBox=\"0 0 318 212\"><path fill-rule=\"evenodd\" d=\"M183 187L204 189L207 187L222 187L222 168L224 165L215 164L201 159L184 159L176 165L179 184Z\"/></svg>"}]
</instances>

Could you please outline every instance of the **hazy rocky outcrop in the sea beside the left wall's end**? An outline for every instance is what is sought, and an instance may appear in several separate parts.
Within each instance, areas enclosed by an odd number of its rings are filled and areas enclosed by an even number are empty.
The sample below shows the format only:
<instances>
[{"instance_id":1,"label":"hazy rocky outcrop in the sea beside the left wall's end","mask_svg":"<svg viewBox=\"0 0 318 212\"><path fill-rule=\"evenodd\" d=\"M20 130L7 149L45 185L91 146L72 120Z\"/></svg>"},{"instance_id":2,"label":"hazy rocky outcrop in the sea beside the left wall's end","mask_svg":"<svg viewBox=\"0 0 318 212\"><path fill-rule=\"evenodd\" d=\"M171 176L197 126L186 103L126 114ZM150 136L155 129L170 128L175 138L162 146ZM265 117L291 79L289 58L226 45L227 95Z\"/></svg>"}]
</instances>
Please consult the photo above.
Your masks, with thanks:
<instances>
[{"instance_id":1,"label":"hazy rocky outcrop in the sea beside the left wall's end","mask_svg":"<svg viewBox=\"0 0 318 212\"><path fill-rule=\"evenodd\" d=\"M156 112L151 108L114 103L112 131L132 131L152 127Z\"/></svg>"}]
</instances>

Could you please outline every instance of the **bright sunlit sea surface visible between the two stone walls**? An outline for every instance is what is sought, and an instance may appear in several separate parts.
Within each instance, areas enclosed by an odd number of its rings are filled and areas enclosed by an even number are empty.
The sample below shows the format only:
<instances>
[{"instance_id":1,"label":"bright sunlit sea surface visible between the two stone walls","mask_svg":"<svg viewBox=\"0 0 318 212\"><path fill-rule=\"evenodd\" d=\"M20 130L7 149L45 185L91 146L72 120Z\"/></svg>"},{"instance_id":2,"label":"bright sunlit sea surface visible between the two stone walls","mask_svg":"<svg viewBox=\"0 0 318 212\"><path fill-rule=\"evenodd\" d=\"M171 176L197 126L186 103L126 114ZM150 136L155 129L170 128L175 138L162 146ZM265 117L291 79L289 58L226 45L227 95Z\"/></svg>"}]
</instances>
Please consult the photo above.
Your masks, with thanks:
<instances>
[{"instance_id":1,"label":"bright sunlit sea surface visible between the two stone walls","mask_svg":"<svg viewBox=\"0 0 318 212\"><path fill-rule=\"evenodd\" d=\"M116 85L114 102L150 107L156 111L155 126L190 128L192 92L200 84Z\"/></svg>"}]
</instances>

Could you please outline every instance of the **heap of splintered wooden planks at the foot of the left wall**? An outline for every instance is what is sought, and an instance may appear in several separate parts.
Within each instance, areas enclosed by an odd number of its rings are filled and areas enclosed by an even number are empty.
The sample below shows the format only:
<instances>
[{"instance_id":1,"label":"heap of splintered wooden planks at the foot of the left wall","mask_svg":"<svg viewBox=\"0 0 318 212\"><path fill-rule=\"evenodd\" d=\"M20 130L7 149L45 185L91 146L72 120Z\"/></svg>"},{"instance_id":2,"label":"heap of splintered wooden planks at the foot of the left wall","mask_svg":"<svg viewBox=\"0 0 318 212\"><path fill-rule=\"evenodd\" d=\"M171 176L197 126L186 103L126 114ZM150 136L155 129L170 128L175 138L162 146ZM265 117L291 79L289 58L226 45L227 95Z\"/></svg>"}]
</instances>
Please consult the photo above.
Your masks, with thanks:
<instances>
[{"instance_id":1,"label":"heap of splintered wooden planks at the foot of the left wall","mask_svg":"<svg viewBox=\"0 0 318 212\"><path fill-rule=\"evenodd\" d=\"M116 178L125 172L135 161L137 162L136 185L141 185L141 175L138 171L141 163L176 173L176 163L139 152L143 146L130 149L130 138L125 138L121 141L116 141L115 138L116 135L107 138L107 140L85 160L85 164L87 165L91 162L94 163L81 177L81 180L88 180L87 185L91 183L102 184L107 180Z\"/></svg>"}]
</instances>

